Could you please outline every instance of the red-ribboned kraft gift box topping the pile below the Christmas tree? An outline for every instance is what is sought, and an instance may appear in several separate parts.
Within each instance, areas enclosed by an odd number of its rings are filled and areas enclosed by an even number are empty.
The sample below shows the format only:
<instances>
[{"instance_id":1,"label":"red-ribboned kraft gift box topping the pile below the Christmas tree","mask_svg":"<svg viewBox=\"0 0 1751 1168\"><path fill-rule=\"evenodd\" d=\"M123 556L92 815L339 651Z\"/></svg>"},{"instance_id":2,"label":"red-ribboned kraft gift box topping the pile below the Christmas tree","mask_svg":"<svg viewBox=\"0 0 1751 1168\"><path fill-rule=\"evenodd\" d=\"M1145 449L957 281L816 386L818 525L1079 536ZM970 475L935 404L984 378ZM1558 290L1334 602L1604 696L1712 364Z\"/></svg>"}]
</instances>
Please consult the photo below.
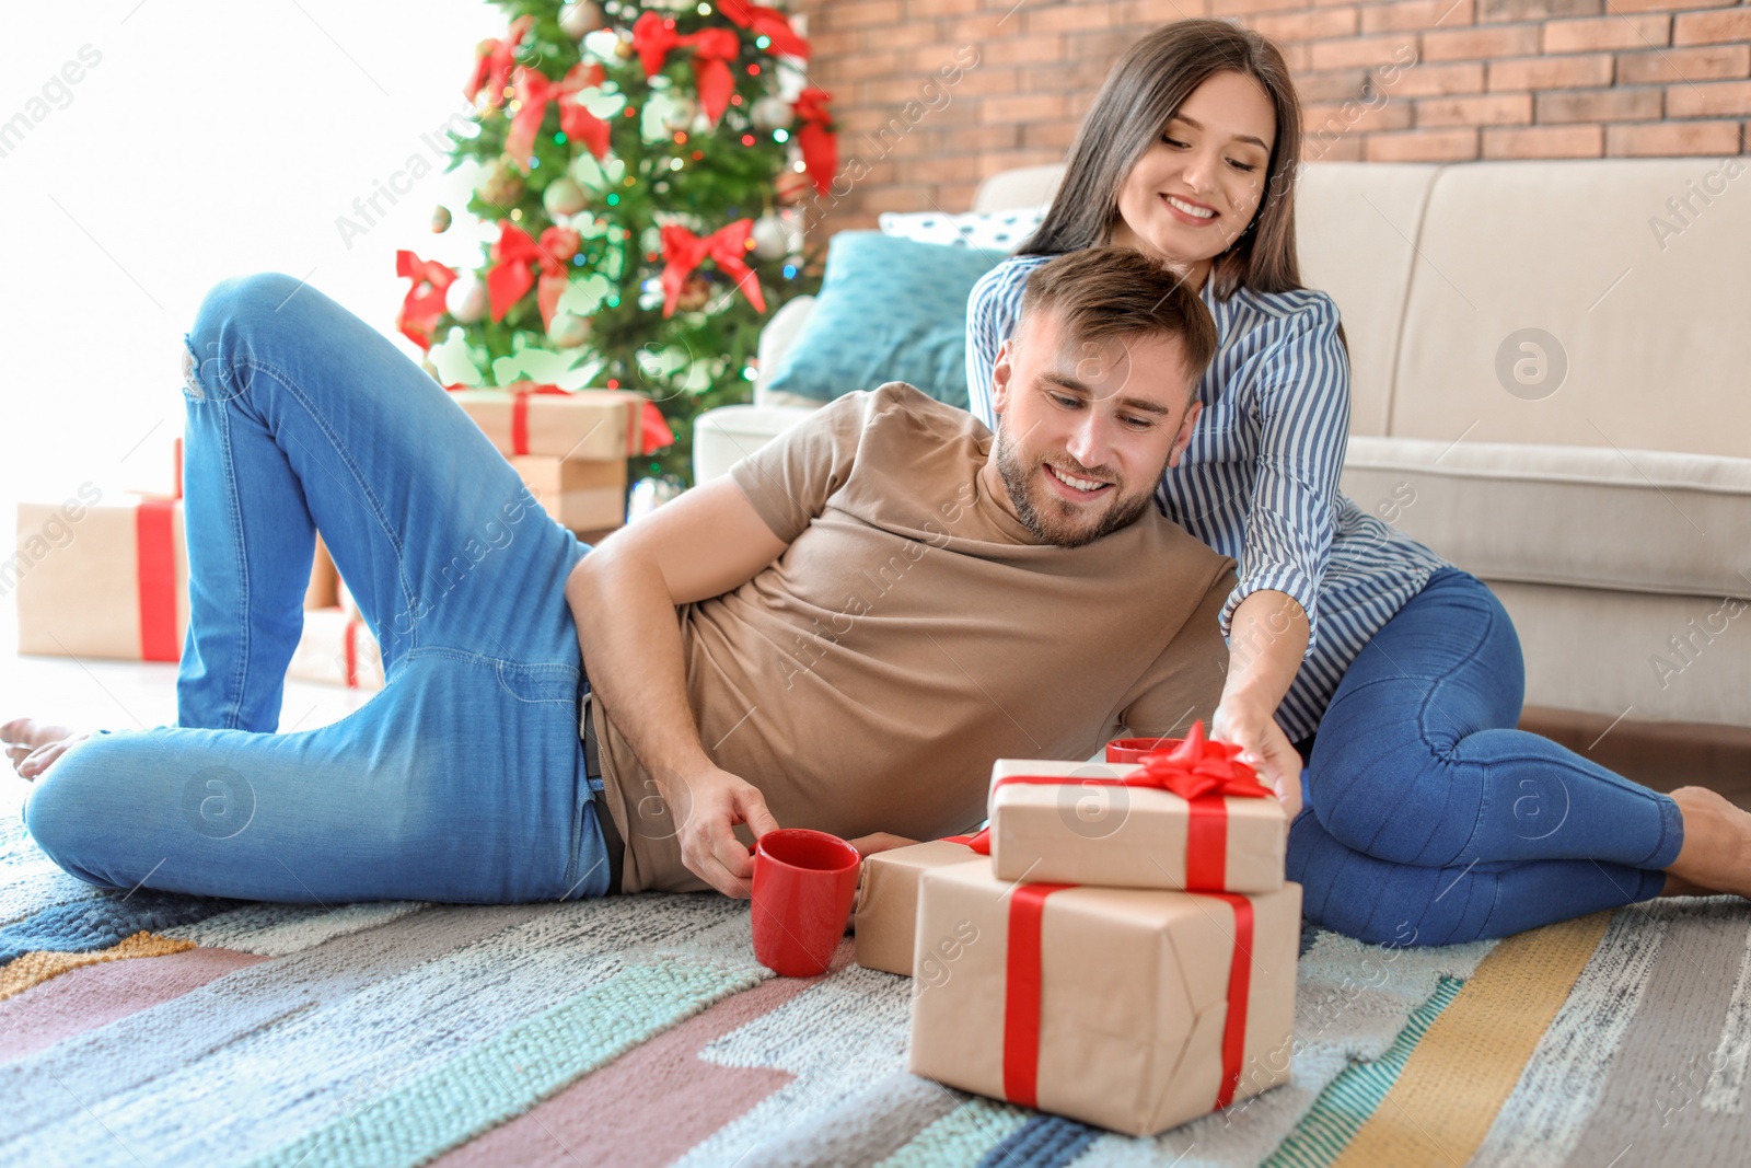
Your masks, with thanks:
<instances>
[{"instance_id":1,"label":"red-ribboned kraft gift box topping the pile below the Christmas tree","mask_svg":"<svg viewBox=\"0 0 1751 1168\"><path fill-rule=\"evenodd\" d=\"M622 389L450 389L499 454L606 462L644 452L648 401Z\"/></svg>"}]
</instances>

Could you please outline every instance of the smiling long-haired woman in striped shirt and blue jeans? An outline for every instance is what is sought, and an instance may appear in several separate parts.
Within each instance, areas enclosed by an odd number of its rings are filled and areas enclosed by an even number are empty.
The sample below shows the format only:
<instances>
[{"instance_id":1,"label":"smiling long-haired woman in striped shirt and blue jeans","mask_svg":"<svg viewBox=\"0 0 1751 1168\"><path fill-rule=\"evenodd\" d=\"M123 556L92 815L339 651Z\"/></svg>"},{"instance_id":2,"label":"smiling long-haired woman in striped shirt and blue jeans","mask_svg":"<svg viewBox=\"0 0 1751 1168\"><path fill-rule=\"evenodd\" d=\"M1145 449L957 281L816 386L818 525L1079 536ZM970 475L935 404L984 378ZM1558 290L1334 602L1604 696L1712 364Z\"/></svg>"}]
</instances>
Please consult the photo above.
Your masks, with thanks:
<instances>
[{"instance_id":1,"label":"smiling long-haired woman in striped shirt and blue jeans","mask_svg":"<svg viewBox=\"0 0 1751 1168\"><path fill-rule=\"evenodd\" d=\"M1212 730L1289 804L1289 876L1310 919L1427 946L1662 893L1751 895L1751 814L1704 788L1651 792L1516 730L1525 672L1508 613L1340 494L1348 357L1336 305L1297 273L1299 156L1299 103L1269 40L1189 19L1136 42L1044 222L970 296L974 412L993 424L998 347L1028 273L1052 256L1135 247L1198 287L1220 350L1157 499L1240 562ZM1082 406L1056 385L1024 392Z\"/></svg>"}]
</instances>

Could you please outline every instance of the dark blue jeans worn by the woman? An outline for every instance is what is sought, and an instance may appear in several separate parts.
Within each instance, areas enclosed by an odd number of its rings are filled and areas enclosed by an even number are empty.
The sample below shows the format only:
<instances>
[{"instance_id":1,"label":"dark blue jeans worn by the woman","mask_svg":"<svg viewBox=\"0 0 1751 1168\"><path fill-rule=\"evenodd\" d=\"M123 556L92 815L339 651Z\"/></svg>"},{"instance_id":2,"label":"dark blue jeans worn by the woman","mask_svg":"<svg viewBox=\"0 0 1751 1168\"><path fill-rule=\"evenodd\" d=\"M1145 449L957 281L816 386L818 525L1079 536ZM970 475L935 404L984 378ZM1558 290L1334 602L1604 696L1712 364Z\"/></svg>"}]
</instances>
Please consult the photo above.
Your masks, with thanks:
<instances>
[{"instance_id":1,"label":"dark blue jeans worn by the woman","mask_svg":"<svg viewBox=\"0 0 1751 1168\"><path fill-rule=\"evenodd\" d=\"M1677 804L1516 730L1523 695L1501 602L1436 573L1350 665L1313 739L1289 834L1310 919L1439 946L1660 895Z\"/></svg>"}]
</instances>

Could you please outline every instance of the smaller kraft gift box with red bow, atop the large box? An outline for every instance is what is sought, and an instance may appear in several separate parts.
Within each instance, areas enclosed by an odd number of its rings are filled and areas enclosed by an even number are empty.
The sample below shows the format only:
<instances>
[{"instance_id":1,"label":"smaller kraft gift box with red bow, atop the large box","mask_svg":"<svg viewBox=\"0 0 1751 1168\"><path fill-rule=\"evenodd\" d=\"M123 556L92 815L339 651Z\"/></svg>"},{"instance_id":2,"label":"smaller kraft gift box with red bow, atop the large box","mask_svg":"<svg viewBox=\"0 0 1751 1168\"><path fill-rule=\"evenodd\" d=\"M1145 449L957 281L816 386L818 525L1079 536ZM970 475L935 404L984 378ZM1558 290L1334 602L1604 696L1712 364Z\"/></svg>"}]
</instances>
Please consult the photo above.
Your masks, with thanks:
<instances>
[{"instance_id":1,"label":"smaller kraft gift box with red bow, atop the large box","mask_svg":"<svg viewBox=\"0 0 1751 1168\"><path fill-rule=\"evenodd\" d=\"M1142 765L1002 758L991 769L991 870L1112 888L1282 888L1283 806L1236 753L1196 725Z\"/></svg>"}]
</instances>

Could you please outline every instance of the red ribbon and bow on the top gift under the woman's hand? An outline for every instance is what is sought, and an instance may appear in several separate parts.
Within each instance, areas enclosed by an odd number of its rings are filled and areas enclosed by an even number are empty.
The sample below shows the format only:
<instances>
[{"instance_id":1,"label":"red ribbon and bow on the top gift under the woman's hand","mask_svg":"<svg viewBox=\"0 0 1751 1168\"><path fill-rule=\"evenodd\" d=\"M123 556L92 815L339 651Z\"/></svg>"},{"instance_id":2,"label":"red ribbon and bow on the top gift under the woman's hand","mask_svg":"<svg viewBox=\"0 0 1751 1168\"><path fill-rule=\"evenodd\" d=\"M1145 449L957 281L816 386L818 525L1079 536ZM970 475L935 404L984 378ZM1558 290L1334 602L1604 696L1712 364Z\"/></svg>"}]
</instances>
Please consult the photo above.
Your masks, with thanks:
<instances>
[{"instance_id":1,"label":"red ribbon and bow on the top gift under the woman's hand","mask_svg":"<svg viewBox=\"0 0 1751 1168\"><path fill-rule=\"evenodd\" d=\"M1233 742L1205 739L1203 721L1192 723L1173 749L1143 755L1138 770L1122 779L1075 779L1044 774L1007 774L991 790L1010 783L1059 786L1084 783L1087 786L1149 786L1178 795L1187 804L1185 821L1185 890L1220 891L1227 888L1227 799L1271 799L1271 790L1259 785L1257 772L1236 756ZM967 841L979 855L991 855L991 828Z\"/></svg>"}]
</instances>

